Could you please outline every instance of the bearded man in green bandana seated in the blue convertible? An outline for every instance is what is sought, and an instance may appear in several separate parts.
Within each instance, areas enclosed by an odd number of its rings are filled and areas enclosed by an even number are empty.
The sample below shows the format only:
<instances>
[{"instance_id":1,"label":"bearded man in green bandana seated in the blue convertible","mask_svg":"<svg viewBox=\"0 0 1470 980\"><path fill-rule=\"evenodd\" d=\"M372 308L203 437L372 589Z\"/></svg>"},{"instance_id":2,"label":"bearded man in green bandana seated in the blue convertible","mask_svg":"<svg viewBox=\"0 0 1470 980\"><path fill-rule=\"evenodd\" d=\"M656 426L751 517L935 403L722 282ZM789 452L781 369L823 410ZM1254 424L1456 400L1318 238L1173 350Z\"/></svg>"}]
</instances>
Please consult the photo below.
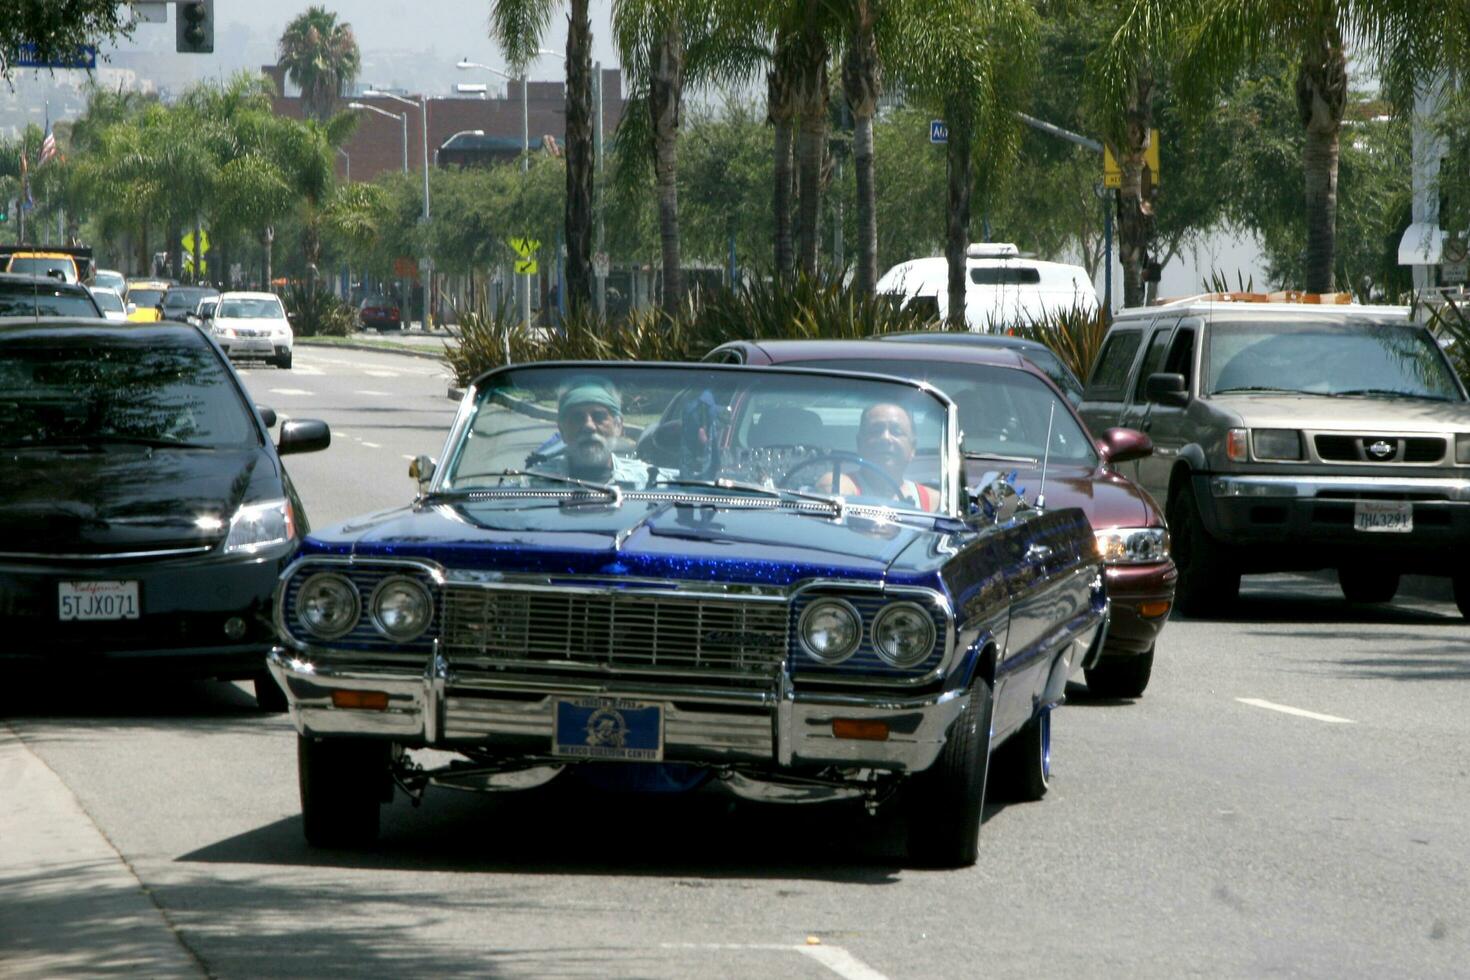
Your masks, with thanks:
<instances>
[{"instance_id":1,"label":"bearded man in green bandana seated in the blue convertible","mask_svg":"<svg viewBox=\"0 0 1470 980\"><path fill-rule=\"evenodd\" d=\"M606 378L582 375L567 382L557 398L557 430L566 448L531 470L623 489L644 489L660 476L657 467L614 451L625 442L623 398Z\"/></svg>"}]
</instances>

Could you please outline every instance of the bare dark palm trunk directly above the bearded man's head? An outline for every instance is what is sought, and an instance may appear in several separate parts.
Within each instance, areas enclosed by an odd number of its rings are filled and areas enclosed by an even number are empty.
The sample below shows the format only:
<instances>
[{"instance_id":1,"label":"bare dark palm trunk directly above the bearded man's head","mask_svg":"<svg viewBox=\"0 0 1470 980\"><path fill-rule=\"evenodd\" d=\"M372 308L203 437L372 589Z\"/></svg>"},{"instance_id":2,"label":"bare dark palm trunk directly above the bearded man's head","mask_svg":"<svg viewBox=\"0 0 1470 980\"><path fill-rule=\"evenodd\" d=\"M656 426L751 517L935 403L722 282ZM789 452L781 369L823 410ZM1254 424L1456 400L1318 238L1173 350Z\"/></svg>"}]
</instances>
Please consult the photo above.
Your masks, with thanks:
<instances>
[{"instance_id":1,"label":"bare dark palm trunk directly above the bearded man's head","mask_svg":"<svg viewBox=\"0 0 1470 980\"><path fill-rule=\"evenodd\" d=\"M567 313L592 301L592 22L572 0L566 32L566 295Z\"/></svg>"}]
</instances>

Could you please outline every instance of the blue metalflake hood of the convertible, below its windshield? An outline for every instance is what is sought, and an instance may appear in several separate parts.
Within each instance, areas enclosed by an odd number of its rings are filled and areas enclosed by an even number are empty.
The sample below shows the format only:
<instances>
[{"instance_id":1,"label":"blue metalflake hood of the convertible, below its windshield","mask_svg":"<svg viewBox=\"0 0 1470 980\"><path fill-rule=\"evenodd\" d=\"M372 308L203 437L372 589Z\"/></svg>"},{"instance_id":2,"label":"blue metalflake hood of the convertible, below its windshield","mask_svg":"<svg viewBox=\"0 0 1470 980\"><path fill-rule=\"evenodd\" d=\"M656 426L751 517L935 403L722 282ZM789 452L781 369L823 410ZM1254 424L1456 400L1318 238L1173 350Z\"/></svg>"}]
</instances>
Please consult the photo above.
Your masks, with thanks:
<instances>
[{"instance_id":1,"label":"blue metalflake hood of the convertible, below its windshield","mask_svg":"<svg viewBox=\"0 0 1470 980\"><path fill-rule=\"evenodd\" d=\"M960 529L945 519L878 520L853 511L833 519L766 505L453 501L334 525L307 538L303 555L778 586L826 576L933 583L942 564L933 544Z\"/></svg>"}]
</instances>

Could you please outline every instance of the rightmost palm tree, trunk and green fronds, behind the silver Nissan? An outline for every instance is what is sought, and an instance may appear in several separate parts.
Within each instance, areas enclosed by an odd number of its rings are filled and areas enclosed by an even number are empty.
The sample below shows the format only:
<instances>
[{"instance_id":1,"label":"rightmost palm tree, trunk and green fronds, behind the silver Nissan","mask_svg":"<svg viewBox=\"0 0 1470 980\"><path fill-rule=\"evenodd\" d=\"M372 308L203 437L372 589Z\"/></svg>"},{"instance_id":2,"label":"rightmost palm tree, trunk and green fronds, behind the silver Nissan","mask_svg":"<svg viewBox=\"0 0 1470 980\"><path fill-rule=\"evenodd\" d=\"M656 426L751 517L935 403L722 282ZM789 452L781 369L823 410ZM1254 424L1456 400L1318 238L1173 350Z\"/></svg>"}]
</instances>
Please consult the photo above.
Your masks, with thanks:
<instances>
[{"instance_id":1,"label":"rightmost palm tree, trunk and green fronds, behind the silver Nissan","mask_svg":"<svg viewBox=\"0 0 1470 980\"><path fill-rule=\"evenodd\" d=\"M1467 19L1463 0L1236 0L1200 4L1191 18L1179 81L1198 106L1270 50L1291 51L1297 59L1307 204L1302 287L1308 292L1333 289L1338 147L1348 101L1349 46L1360 48L1363 63L1382 78L1423 76L1445 57L1446 18L1455 16L1461 24Z\"/></svg>"}]
</instances>

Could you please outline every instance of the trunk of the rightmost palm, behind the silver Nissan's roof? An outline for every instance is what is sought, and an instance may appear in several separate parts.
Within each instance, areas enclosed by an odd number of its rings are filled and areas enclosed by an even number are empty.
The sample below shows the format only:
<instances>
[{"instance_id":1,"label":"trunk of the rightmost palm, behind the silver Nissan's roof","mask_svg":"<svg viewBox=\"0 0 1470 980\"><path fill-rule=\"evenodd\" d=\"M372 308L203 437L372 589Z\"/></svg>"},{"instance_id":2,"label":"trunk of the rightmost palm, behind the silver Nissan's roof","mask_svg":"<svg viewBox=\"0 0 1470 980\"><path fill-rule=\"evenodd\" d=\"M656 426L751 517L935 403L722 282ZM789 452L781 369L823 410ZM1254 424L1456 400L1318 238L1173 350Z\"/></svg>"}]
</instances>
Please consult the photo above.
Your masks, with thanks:
<instances>
[{"instance_id":1,"label":"trunk of the rightmost palm, behind the silver Nissan's roof","mask_svg":"<svg viewBox=\"0 0 1470 980\"><path fill-rule=\"evenodd\" d=\"M1307 292L1332 292L1338 241L1338 137L1348 98L1348 62L1333 26L1302 53L1297 113L1307 129L1301 163L1307 201Z\"/></svg>"}]
</instances>

